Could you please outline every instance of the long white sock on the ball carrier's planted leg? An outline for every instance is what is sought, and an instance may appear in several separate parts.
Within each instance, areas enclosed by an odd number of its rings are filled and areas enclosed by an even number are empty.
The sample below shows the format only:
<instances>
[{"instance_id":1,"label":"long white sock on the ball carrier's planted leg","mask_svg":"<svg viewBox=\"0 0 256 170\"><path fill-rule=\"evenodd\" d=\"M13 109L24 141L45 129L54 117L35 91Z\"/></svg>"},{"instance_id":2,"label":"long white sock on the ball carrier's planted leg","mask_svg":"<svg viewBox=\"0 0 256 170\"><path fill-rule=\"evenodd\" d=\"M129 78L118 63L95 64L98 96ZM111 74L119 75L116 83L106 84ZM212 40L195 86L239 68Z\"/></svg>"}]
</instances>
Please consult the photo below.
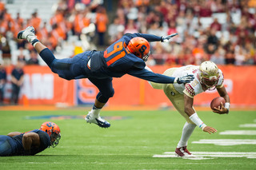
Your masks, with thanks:
<instances>
[{"instance_id":1,"label":"long white sock on the ball carrier's planted leg","mask_svg":"<svg viewBox=\"0 0 256 170\"><path fill-rule=\"evenodd\" d=\"M178 142L177 148L181 148L187 145L187 141L190 139L190 136L196 126L197 125L189 124L187 122L185 123L182 129L182 137L181 137L181 140L179 140Z\"/></svg>"}]
</instances>

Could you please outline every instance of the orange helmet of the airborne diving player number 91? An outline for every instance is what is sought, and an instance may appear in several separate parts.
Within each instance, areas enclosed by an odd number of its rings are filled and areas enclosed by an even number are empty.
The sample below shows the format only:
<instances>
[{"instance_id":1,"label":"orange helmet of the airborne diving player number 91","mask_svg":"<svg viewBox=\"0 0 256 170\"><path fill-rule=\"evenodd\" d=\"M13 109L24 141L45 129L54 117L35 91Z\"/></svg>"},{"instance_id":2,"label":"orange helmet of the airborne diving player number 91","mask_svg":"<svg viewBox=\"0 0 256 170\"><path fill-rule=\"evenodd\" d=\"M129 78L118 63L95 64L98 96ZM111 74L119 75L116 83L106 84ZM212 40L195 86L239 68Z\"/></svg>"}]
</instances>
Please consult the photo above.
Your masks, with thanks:
<instances>
[{"instance_id":1,"label":"orange helmet of the airborne diving player number 91","mask_svg":"<svg viewBox=\"0 0 256 170\"><path fill-rule=\"evenodd\" d=\"M135 56L142 58L143 61L147 61L150 56L150 43L145 38L132 38L127 48L130 53L134 53Z\"/></svg>"}]
</instances>

